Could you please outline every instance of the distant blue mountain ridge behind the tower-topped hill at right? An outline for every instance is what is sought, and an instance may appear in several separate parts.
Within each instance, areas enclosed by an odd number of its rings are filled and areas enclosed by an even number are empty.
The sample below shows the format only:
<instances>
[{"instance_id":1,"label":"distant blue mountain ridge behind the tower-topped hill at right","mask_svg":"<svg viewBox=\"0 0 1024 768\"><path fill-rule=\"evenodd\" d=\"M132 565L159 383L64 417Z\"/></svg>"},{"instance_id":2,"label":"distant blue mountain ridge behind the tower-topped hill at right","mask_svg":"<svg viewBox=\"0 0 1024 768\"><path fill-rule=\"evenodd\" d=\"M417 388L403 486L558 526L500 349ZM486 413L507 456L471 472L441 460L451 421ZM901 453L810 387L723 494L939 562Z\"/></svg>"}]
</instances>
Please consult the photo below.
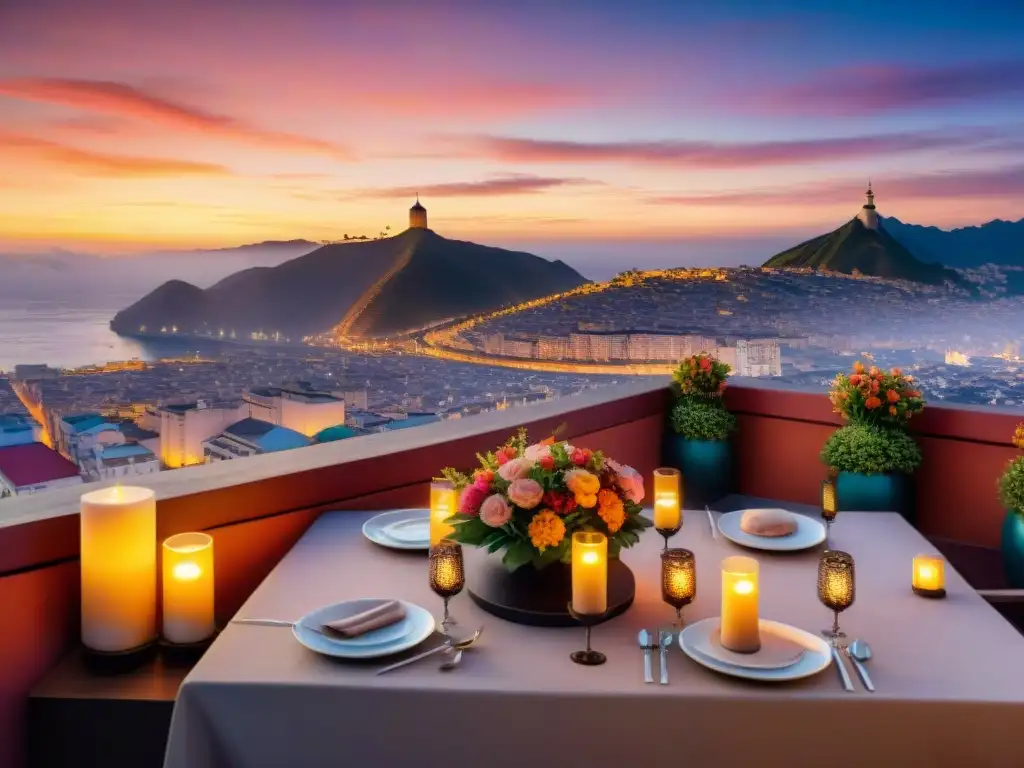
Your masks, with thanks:
<instances>
[{"instance_id":1,"label":"distant blue mountain ridge behind the tower-topped hill at right","mask_svg":"<svg viewBox=\"0 0 1024 768\"><path fill-rule=\"evenodd\" d=\"M954 267L980 264L1024 266L1024 219L995 219L980 226L958 229L907 224L891 217L882 221L890 234L929 261Z\"/></svg>"}]
</instances>

